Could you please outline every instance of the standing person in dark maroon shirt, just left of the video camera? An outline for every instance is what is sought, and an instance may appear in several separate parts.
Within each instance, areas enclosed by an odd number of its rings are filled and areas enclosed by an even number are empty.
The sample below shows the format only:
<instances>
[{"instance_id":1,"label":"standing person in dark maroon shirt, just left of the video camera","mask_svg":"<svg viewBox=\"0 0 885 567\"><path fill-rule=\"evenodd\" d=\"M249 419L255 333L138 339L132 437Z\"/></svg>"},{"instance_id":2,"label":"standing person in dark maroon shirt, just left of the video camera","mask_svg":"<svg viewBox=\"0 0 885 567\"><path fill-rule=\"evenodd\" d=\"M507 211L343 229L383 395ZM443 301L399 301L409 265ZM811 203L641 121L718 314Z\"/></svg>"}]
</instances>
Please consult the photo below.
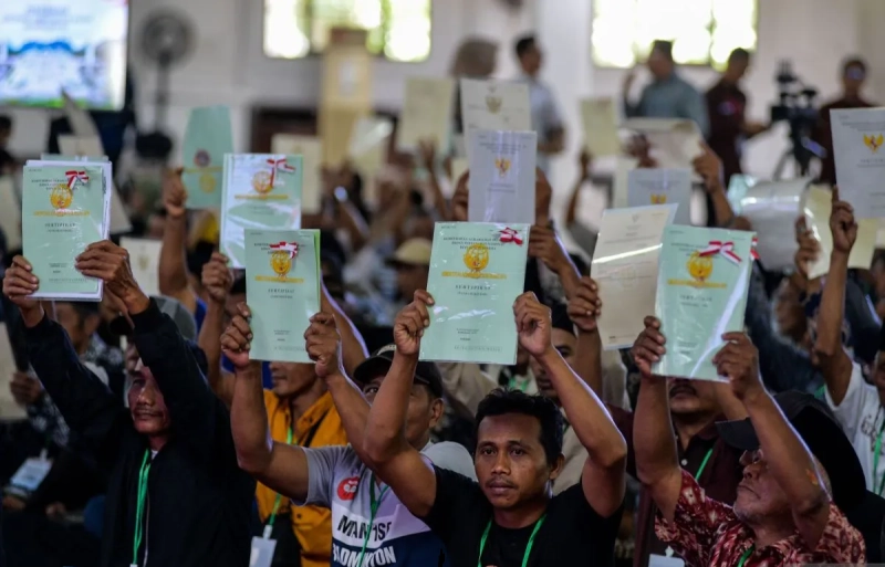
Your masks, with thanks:
<instances>
[{"instance_id":1,"label":"standing person in dark maroon shirt, just left of the video camera","mask_svg":"<svg viewBox=\"0 0 885 567\"><path fill-rule=\"evenodd\" d=\"M750 52L736 49L728 56L728 66L719 81L706 94L707 112L710 115L708 144L722 160L726 187L732 175L742 172L740 159L743 141L770 127L747 122L745 117L747 95L740 87L740 81L749 66Z\"/></svg>"}]
</instances>

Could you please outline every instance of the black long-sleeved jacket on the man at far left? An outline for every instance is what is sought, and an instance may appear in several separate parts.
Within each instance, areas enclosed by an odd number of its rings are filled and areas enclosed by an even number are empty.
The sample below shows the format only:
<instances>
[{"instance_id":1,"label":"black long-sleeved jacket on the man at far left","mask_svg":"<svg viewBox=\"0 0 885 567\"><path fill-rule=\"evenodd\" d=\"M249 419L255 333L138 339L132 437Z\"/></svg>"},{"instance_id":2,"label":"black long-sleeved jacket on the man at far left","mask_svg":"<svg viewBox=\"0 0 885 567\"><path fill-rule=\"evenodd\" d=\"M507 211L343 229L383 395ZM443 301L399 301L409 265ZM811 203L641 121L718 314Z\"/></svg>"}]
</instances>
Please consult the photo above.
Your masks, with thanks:
<instances>
[{"instance_id":1,"label":"black long-sleeved jacket on the man at far left","mask_svg":"<svg viewBox=\"0 0 885 567\"><path fill-rule=\"evenodd\" d=\"M209 390L175 323L150 307L134 315L134 342L171 419L171 435L148 475L145 543L149 567L249 564L254 481L237 465L230 416ZM133 563L138 471L146 438L122 400L86 369L64 329L44 318L27 329L28 354L72 431L108 471L102 567Z\"/></svg>"}]
</instances>

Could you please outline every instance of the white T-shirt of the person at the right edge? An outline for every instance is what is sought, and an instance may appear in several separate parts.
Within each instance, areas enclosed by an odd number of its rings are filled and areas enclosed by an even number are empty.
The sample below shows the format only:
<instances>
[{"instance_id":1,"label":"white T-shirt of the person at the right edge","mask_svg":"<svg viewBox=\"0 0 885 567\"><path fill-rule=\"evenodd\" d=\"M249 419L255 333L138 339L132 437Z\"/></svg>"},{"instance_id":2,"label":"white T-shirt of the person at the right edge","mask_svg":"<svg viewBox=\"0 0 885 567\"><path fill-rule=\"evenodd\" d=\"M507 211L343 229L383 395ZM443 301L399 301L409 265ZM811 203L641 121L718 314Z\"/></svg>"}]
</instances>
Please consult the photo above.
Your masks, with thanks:
<instances>
[{"instance_id":1,"label":"white T-shirt of the person at the right edge","mask_svg":"<svg viewBox=\"0 0 885 567\"><path fill-rule=\"evenodd\" d=\"M845 435L854 447L866 477L866 489L878 494L885 476L885 455L879 455L878 471L874 470L876 461L876 440L885 428L885 409L878 399L876 387L864 380L861 367L854 364L851 370L848 390L842 403L836 406L825 390L826 403L836 414ZM882 448L885 450L885 448ZM885 452L885 451L884 451Z\"/></svg>"}]
</instances>

